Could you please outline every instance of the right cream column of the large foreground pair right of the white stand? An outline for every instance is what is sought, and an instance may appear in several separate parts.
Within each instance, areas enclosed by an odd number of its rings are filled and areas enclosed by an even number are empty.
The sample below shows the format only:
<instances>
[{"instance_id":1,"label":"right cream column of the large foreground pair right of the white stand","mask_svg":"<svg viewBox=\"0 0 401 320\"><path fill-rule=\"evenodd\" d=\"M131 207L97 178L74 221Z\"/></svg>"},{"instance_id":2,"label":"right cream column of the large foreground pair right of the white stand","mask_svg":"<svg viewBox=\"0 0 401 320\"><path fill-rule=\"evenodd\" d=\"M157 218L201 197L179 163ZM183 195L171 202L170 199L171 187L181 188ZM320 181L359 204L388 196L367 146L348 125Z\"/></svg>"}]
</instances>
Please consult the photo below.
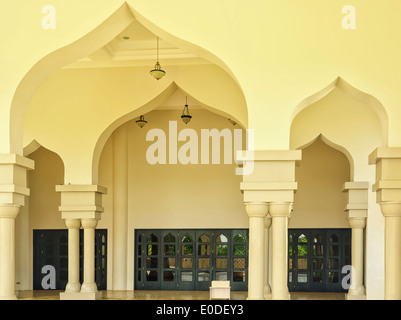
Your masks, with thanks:
<instances>
[{"instance_id":1,"label":"right cream column of the large foreground pair right of the white stand","mask_svg":"<svg viewBox=\"0 0 401 320\"><path fill-rule=\"evenodd\" d=\"M288 272L288 217L291 203L270 203L272 217L272 300L289 300Z\"/></svg>"}]
</instances>

